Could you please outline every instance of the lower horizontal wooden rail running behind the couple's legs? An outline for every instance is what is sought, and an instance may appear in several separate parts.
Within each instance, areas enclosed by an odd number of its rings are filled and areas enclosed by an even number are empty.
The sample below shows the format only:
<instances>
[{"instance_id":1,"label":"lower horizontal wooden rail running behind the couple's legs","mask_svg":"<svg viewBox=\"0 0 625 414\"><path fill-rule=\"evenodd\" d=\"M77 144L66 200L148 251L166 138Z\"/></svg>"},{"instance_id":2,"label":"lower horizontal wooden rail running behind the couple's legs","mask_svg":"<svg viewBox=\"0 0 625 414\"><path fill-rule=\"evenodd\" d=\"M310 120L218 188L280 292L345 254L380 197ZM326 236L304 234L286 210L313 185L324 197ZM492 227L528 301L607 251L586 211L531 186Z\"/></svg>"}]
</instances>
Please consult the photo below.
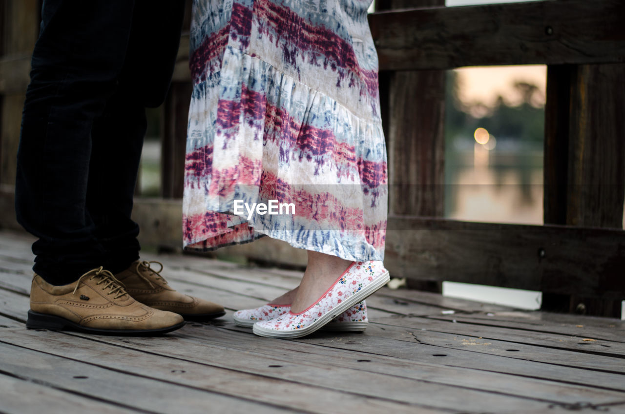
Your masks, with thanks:
<instances>
[{"instance_id":1,"label":"lower horizontal wooden rail running behind the couple's legs","mask_svg":"<svg viewBox=\"0 0 625 414\"><path fill-rule=\"evenodd\" d=\"M182 201L136 199L133 220L144 246L180 248ZM283 241L263 238L219 253L305 265ZM301 252L301 251L300 251ZM586 300L625 300L625 231L572 226L504 225L389 216L385 265L392 277L458 281Z\"/></svg>"}]
</instances>

